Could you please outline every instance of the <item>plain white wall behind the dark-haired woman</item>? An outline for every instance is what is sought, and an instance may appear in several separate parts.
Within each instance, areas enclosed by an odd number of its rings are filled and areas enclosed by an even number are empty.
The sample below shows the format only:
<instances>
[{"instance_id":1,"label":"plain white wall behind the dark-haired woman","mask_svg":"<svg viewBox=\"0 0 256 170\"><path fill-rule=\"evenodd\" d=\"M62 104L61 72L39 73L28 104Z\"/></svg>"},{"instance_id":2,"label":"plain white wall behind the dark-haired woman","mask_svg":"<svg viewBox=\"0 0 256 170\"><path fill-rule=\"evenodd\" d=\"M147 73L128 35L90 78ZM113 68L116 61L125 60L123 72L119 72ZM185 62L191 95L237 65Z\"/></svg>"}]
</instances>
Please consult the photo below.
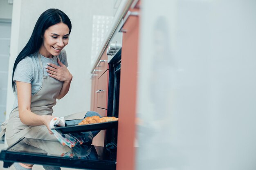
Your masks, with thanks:
<instances>
[{"instance_id":1,"label":"plain white wall behind the dark-haired woman","mask_svg":"<svg viewBox=\"0 0 256 170\"><path fill-rule=\"evenodd\" d=\"M7 92L7 117L11 111L14 95L11 89L13 63L25 46L36 20L49 8L61 9L72 22L72 31L67 51L68 69L73 75L69 93L54 106L54 115L90 110L90 57L92 42L92 16L113 13L113 0L14 0L11 30L9 77Z\"/></svg>"}]
</instances>

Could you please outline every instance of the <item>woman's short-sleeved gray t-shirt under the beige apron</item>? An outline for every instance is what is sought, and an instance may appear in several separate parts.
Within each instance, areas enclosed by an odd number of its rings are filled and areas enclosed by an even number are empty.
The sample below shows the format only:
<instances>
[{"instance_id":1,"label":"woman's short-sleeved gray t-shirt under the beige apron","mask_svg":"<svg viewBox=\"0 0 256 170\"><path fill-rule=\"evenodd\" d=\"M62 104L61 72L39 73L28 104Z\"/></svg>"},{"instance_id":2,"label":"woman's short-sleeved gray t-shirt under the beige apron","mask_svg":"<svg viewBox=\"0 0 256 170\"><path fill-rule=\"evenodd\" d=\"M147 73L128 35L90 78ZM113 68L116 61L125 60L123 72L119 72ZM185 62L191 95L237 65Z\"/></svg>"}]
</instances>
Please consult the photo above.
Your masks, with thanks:
<instances>
[{"instance_id":1,"label":"woman's short-sleeved gray t-shirt under the beige apron","mask_svg":"<svg viewBox=\"0 0 256 170\"><path fill-rule=\"evenodd\" d=\"M57 57L61 60L61 62L68 66L67 64L67 55L65 49L63 49L58 56L54 56L53 58L47 58L43 55L40 55L41 61L43 63L43 71L45 76L49 76L46 72L45 66L48 66L47 63L53 63L59 66L57 62ZM19 81L19 82L25 82L31 84L31 95L36 94L40 87L42 86L43 82L43 71L40 66L39 58L37 56L37 53L34 53L32 55L29 55L25 57L23 60L21 60L13 75L13 81ZM13 104L13 109L18 107L18 97L17 93L15 102Z\"/></svg>"}]
</instances>

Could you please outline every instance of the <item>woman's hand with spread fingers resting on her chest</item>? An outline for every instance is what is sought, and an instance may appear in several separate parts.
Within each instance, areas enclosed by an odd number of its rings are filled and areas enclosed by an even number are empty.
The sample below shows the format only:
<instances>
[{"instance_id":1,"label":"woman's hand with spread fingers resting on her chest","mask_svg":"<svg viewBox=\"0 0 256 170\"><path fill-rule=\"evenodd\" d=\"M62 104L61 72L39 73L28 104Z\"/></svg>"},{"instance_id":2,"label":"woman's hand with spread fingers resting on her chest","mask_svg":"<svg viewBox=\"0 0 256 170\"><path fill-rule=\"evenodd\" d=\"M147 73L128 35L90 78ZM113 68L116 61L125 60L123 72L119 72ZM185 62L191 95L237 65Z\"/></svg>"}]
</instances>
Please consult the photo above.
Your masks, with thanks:
<instances>
[{"instance_id":1,"label":"woman's hand with spread fingers resting on her chest","mask_svg":"<svg viewBox=\"0 0 256 170\"><path fill-rule=\"evenodd\" d=\"M61 82L70 83L72 80L72 74L68 71L67 67L61 63L60 60L57 60L60 66L56 64L47 63L48 66L45 66L47 73L50 77L58 79Z\"/></svg>"}]
</instances>

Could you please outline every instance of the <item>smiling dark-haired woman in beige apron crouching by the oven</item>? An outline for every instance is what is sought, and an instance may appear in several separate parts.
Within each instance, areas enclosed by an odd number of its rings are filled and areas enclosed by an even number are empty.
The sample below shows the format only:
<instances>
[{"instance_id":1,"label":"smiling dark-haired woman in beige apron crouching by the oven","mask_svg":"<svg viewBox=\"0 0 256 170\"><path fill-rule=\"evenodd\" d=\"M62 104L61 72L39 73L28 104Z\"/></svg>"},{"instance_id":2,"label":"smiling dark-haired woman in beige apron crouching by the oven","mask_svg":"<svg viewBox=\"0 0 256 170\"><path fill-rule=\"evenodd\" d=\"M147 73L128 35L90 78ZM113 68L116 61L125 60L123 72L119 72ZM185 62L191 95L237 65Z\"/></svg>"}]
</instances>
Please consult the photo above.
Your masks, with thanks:
<instances>
[{"instance_id":1,"label":"smiling dark-haired woman in beige apron crouching by the oven","mask_svg":"<svg viewBox=\"0 0 256 170\"><path fill-rule=\"evenodd\" d=\"M56 140L54 135L50 135L49 122L54 118L52 107L56 99L67 94L72 81L63 49L68 44L71 27L65 13L48 9L38 18L29 42L18 55L13 66L16 102L5 135L8 145L20 137ZM93 133L93 136L97 134ZM33 165L15 163L14 166L17 170L26 170Z\"/></svg>"}]
</instances>

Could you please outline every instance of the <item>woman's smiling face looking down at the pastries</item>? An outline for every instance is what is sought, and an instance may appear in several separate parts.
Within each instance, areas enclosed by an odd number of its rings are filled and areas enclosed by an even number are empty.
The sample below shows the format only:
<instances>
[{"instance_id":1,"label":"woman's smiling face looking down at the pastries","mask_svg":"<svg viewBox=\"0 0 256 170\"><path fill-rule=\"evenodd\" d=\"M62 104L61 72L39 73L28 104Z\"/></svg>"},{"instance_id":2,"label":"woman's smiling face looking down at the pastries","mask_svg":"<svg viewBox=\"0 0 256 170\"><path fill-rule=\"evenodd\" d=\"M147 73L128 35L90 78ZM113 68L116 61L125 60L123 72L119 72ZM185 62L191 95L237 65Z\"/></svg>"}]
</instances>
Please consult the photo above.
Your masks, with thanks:
<instances>
[{"instance_id":1,"label":"woman's smiling face looking down at the pastries","mask_svg":"<svg viewBox=\"0 0 256 170\"><path fill-rule=\"evenodd\" d=\"M62 22L50 26L43 35L43 44L39 53L47 58L59 55L61 50L68 44L70 29Z\"/></svg>"}]
</instances>

